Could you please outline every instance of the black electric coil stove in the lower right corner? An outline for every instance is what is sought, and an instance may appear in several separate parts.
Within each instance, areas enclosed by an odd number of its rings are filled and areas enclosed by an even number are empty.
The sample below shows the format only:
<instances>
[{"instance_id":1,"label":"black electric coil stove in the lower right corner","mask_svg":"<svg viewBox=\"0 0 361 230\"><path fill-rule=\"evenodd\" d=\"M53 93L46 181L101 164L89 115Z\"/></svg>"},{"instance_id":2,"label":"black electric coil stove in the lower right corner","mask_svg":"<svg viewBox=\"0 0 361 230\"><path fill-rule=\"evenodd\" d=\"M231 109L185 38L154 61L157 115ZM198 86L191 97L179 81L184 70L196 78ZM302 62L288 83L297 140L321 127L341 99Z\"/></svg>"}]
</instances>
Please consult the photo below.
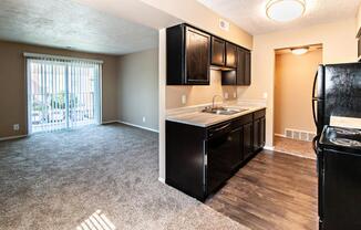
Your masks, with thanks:
<instances>
[{"instance_id":1,"label":"black electric coil stove in the lower right corner","mask_svg":"<svg viewBox=\"0 0 361 230\"><path fill-rule=\"evenodd\" d=\"M361 229L361 129L324 126L317 150L319 229Z\"/></svg>"}]
</instances>

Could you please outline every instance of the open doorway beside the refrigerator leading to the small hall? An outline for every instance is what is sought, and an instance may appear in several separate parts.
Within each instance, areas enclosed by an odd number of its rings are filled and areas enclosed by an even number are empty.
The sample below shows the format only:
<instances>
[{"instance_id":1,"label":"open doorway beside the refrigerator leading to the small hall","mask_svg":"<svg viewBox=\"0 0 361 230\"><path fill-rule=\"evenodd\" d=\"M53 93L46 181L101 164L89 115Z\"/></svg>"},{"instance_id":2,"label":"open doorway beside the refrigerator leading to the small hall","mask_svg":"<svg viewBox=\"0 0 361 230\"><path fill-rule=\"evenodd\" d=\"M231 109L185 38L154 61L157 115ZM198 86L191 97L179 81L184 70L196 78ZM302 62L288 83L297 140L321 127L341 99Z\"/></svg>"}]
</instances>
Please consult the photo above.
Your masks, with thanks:
<instances>
[{"instance_id":1,"label":"open doorway beside the refrigerator leading to the small hall","mask_svg":"<svg viewBox=\"0 0 361 230\"><path fill-rule=\"evenodd\" d=\"M311 140L312 85L322 64L322 45L276 50L275 65L275 150L316 158Z\"/></svg>"}]
</instances>

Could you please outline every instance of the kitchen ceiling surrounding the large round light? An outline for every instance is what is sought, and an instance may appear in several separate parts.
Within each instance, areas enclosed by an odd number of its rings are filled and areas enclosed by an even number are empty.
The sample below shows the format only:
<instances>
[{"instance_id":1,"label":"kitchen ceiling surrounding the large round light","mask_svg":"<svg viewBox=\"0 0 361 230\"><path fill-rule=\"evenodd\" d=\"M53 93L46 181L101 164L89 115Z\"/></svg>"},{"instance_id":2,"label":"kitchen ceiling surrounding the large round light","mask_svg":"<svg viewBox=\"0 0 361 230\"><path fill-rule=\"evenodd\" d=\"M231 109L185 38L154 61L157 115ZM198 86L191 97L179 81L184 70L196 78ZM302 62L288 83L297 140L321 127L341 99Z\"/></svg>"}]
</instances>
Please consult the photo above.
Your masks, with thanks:
<instances>
[{"instance_id":1,"label":"kitchen ceiling surrounding the large round light","mask_svg":"<svg viewBox=\"0 0 361 230\"><path fill-rule=\"evenodd\" d=\"M266 17L268 0L198 0L251 34L297 29L311 24L355 18L361 0L306 0L305 15L280 23Z\"/></svg>"}]
</instances>

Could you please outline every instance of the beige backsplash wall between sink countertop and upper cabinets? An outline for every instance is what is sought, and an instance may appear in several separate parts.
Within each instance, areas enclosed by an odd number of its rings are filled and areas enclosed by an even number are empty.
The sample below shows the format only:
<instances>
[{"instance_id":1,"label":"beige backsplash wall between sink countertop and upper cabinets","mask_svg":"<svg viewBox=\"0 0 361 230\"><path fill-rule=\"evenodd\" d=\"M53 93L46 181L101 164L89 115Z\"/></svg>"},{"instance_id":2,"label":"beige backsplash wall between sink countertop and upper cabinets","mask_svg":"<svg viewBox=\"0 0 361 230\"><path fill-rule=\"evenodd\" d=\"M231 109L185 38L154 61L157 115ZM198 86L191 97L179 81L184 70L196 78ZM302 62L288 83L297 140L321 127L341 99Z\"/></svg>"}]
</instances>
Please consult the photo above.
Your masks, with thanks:
<instances>
[{"instance_id":1,"label":"beige backsplash wall between sink countertop and upper cabinets","mask_svg":"<svg viewBox=\"0 0 361 230\"><path fill-rule=\"evenodd\" d=\"M237 93L236 86L221 86L220 71L210 70L210 84L196 86L166 86L166 108L177 108L207 104L212 102L214 95L225 96L228 93L228 100L236 100L234 93ZM182 103L182 96L186 96L186 104ZM220 100L217 97L217 102ZM227 101L227 100L225 100Z\"/></svg>"}]
</instances>

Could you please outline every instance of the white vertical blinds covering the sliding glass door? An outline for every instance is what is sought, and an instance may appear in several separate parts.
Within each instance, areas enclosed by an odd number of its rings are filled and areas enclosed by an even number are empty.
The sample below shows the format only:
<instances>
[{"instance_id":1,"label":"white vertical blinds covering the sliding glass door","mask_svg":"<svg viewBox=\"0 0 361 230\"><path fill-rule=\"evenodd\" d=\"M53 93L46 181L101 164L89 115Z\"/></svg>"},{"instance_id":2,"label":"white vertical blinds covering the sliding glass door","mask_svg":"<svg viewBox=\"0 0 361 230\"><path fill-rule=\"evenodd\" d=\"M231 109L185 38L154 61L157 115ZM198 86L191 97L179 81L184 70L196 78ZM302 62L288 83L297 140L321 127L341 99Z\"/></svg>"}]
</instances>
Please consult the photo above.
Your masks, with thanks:
<instances>
[{"instance_id":1,"label":"white vertical blinds covering the sliding glass door","mask_svg":"<svg viewBox=\"0 0 361 230\"><path fill-rule=\"evenodd\" d=\"M102 63L27 54L29 130L99 124Z\"/></svg>"}]
</instances>

